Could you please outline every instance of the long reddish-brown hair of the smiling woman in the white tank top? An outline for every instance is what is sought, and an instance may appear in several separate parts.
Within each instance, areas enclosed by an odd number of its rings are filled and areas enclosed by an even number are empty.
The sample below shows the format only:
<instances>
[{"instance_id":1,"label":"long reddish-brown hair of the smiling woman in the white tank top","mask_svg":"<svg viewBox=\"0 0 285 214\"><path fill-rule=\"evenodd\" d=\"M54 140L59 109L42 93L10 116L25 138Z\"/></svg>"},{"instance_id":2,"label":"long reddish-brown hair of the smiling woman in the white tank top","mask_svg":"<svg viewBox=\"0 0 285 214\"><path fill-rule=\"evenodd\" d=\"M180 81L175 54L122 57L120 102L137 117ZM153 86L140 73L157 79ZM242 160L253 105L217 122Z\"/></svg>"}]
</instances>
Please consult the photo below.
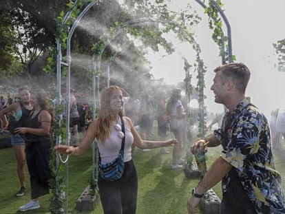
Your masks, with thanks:
<instances>
[{"instance_id":1,"label":"long reddish-brown hair of the smiling woman in the white tank top","mask_svg":"<svg viewBox=\"0 0 285 214\"><path fill-rule=\"evenodd\" d=\"M98 116L98 126L97 126L97 138L101 142L105 142L106 138L108 138L111 134L112 130L112 122L116 120L116 113L110 107L111 96L114 91L122 92L122 89L116 85L112 85L104 89L101 93L101 106L99 110ZM123 110L119 112L120 116L123 116Z\"/></svg>"}]
</instances>

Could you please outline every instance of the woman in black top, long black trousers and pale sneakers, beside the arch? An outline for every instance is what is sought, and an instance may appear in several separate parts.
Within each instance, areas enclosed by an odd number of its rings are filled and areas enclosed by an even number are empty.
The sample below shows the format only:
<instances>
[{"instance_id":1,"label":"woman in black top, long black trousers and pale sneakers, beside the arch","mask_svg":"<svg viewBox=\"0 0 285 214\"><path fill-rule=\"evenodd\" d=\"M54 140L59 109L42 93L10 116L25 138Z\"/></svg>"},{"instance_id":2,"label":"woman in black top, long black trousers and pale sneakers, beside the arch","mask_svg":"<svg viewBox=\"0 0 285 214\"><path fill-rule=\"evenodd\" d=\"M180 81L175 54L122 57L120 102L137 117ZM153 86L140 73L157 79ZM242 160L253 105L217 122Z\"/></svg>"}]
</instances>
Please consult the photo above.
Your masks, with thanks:
<instances>
[{"instance_id":1,"label":"woman in black top, long black trousers and pale sneakers, beside the arch","mask_svg":"<svg viewBox=\"0 0 285 214\"><path fill-rule=\"evenodd\" d=\"M50 193L48 180L52 177L49 167L52 141L50 127L52 116L49 112L47 94L43 89L31 92L32 112L23 127L16 130L24 134L27 140L26 156L30 173L31 200L21 206L19 211L29 211L39 208L39 197Z\"/></svg>"}]
</instances>

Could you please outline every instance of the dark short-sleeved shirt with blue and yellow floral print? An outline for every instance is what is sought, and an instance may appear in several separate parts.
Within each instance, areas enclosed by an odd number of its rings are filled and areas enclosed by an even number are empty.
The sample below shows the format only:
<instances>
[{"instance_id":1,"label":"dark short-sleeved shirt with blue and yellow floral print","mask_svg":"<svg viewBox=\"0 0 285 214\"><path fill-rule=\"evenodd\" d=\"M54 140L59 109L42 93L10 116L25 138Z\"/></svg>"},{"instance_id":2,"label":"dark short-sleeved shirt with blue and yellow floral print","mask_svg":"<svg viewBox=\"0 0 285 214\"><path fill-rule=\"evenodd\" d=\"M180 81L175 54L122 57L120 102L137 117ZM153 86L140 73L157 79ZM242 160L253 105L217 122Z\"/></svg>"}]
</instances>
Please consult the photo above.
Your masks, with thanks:
<instances>
[{"instance_id":1,"label":"dark short-sleeved shirt with blue and yellow floral print","mask_svg":"<svg viewBox=\"0 0 285 214\"><path fill-rule=\"evenodd\" d=\"M227 120L230 116L233 119ZM229 126L225 124L226 120ZM225 127L229 128L224 131ZM222 127L214 134L220 142L228 138L221 157L235 167L257 213L285 213L281 178L275 170L271 151L270 129L259 109L245 98L235 107L233 114L225 114ZM222 180L223 192L229 182L228 174Z\"/></svg>"}]
</instances>

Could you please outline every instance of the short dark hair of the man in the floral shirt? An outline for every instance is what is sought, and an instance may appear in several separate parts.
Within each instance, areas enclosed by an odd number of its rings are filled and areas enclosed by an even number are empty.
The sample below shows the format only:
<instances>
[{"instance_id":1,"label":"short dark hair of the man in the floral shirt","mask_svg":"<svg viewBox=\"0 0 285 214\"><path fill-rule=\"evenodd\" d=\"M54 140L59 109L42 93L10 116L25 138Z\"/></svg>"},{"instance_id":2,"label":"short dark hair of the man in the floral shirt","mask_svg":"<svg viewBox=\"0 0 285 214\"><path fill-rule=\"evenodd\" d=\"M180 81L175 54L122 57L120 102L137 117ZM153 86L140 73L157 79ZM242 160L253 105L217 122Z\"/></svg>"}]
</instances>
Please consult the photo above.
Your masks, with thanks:
<instances>
[{"instance_id":1,"label":"short dark hair of the man in the floral shirt","mask_svg":"<svg viewBox=\"0 0 285 214\"><path fill-rule=\"evenodd\" d=\"M235 83L235 88L239 92L245 93L246 86L251 77L251 72L244 63L230 63L219 66L214 70L215 73L219 71L222 72L224 81L231 79Z\"/></svg>"}]
</instances>

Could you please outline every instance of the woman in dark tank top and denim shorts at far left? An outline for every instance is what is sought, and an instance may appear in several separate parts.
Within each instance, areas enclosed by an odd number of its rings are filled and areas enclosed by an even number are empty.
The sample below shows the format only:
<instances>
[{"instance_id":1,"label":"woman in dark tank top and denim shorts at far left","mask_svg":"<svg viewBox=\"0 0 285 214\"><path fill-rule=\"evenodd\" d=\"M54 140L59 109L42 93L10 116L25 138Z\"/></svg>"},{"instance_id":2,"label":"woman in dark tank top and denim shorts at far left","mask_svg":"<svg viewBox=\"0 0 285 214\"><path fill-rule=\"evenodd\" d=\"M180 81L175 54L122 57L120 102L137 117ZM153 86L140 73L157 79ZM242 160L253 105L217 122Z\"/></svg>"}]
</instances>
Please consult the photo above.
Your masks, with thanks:
<instances>
[{"instance_id":1,"label":"woman in dark tank top and denim shorts at far left","mask_svg":"<svg viewBox=\"0 0 285 214\"><path fill-rule=\"evenodd\" d=\"M14 123L19 123L19 127L23 125L25 120L28 119L30 112L32 111L32 106L30 105L30 89L27 85L19 87L18 89L19 95L21 97L21 102L12 103L8 105L8 107L4 108L0 112L0 118L3 121L3 128L8 129L10 122L10 131L12 132L11 136L11 145L14 149L14 153L17 160L17 173L19 177L19 181L21 184L21 188L16 193L17 196L21 196L25 194L25 136L20 133L14 133L14 128L11 125ZM12 114L13 113L13 114ZM8 117L13 116L8 120ZM18 121L18 122L14 122Z\"/></svg>"}]
</instances>

